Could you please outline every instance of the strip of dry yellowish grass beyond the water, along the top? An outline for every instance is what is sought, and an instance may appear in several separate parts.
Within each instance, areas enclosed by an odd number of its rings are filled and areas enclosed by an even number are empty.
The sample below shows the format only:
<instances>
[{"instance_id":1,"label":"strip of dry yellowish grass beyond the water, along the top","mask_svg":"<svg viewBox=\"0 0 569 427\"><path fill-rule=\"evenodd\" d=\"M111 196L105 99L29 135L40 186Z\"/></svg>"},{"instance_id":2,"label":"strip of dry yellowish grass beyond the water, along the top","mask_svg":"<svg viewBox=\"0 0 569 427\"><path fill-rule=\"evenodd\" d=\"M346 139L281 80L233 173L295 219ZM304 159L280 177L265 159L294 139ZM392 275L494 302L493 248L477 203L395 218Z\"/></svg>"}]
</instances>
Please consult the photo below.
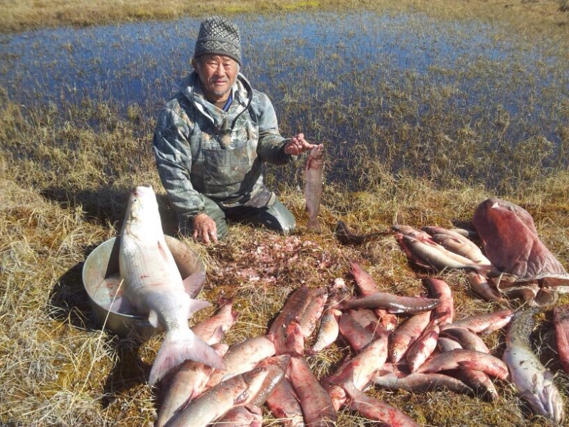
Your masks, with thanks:
<instances>
[{"instance_id":1,"label":"strip of dry yellowish grass beyond the water, along the top","mask_svg":"<svg viewBox=\"0 0 569 427\"><path fill-rule=\"evenodd\" d=\"M408 0L393 2L386 0L339 1L339 0L211 0L173 1L173 0L42 0L0 2L3 14L0 16L0 31L22 31L33 28L55 27L61 25L91 26L101 23L119 23L129 21L154 21L179 19L183 16L206 16L208 14L256 14L275 11L302 10L353 10L370 9L385 11L401 9L420 11L447 19L488 19L491 21L512 21L524 28L535 26L555 28L560 26L566 31L569 24L567 2L565 0L496 0L496 1L459 1L449 7L447 0L420 1ZM563 29L565 28L565 29Z\"/></svg>"}]
</instances>

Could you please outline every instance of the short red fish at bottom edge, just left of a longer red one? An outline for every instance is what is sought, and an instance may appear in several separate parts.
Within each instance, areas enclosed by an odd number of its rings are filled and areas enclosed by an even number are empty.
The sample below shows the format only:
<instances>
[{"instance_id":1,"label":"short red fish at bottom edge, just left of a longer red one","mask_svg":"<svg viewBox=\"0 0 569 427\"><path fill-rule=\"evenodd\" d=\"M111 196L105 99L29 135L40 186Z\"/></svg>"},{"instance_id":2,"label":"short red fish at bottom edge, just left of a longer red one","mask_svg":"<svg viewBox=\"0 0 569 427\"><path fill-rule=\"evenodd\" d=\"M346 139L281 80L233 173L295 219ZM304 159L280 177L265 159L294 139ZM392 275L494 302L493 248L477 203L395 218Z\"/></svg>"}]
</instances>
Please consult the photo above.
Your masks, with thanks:
<instances>
[{"instance_id":1,"label":"short red fish at bottom edge, just left of a longer red one","mask_svg":"<svg viewBox=\"0 0 569 427\"><path fill-rule=\"evenodd\" d=\"M266 401L272 416L278 418L283 426L304 427L304 417L299 402L297 392L286 376L275 386Z\"/></svg>"}]
</instances>

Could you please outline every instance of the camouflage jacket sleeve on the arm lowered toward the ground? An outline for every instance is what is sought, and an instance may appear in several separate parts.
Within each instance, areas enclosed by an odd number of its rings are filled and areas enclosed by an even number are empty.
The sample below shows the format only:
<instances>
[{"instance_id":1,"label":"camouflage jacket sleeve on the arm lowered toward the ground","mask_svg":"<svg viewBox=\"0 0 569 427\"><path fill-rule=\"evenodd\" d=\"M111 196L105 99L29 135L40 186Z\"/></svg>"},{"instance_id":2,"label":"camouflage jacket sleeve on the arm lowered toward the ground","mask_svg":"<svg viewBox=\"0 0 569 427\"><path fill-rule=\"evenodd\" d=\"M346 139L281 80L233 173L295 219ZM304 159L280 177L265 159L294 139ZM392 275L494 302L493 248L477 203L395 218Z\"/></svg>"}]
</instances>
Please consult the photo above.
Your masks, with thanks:
<instances>
[{"instance_id":1,"label":"camouflage jacket sleeve on the arm lowered toward the ground","mask_svg":"<svg viewBox=\"0 0 569 427\"><path fill-rule=\"evenodd\" d=\"M191 147L188 136L191 124L174 110L164 107L154 131L153 150L162 185L174 210L191 218L203 211L203 200L190 180Z\"/></svg>"}]
</instances>

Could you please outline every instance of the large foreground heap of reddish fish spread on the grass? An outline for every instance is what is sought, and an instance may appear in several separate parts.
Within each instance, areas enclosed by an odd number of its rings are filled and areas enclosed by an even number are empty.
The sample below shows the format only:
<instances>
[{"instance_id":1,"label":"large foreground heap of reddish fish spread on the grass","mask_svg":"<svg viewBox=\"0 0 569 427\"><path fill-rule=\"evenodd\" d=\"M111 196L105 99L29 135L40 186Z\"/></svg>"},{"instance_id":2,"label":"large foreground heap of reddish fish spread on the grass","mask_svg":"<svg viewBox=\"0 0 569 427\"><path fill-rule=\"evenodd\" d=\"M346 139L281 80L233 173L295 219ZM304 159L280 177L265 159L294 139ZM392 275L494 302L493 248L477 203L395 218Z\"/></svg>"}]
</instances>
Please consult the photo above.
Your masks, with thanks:
<instances>
[{"instance_id":1,"label":"large foreground heap of reddish fish spread on the grass","mask_svg":"<svg viewBox=\"0 0 569 427\"><path fill-rule=\"evenodd\" d=\"M217 314L192 330L223 355L226 369L191 360L174 369L160 384L165 397L156 425L207 426L217 421L261 426L261 406L266 405L285 426L333 426L341 408L390 426L417 426L398 408L364 392L372 387L447 389L496 399L496 380L511 381L534 412L563 421L553 374L529 344L539 309L504 309L454 321L452 291L444 280L422 280L430 297L398 297L381 292L356 262L351 274L358 296L351 295L341 278L329 288L301 285L267 335L229 349L219 343L237 315L231 300L220 301ZM506 352L499 359L479 334L506 325ZM306 356L339 340L349 344L351 357L318 379Z\"/></svg>"}]
</instances>

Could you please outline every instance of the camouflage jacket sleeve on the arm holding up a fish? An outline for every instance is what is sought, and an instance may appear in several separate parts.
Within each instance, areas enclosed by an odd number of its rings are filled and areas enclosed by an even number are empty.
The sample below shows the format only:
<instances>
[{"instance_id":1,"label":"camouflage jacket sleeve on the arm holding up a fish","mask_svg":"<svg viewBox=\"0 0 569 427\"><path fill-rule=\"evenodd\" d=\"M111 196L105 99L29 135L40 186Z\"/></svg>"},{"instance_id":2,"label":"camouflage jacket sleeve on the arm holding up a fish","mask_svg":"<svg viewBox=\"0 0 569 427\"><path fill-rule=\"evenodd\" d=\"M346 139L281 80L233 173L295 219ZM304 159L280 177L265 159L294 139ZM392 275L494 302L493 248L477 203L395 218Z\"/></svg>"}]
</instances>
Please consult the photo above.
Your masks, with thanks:
<instances>
[{"instance_id":1,"label":"camouflage jacket sleeve on the arm holding up a fish","mask_svg":"<svg viewBox=\"0 0 569 427\"><path fill-rule=\"evenodd\" d=\"M264 93L257 92L256 102L253 103L255 114L259 123L259 143L257 154L269 163L286 164L297 159L296 156L285 154L285 144L289 139L280 135L275 108Z\"/></svg>"}]
</instances>

